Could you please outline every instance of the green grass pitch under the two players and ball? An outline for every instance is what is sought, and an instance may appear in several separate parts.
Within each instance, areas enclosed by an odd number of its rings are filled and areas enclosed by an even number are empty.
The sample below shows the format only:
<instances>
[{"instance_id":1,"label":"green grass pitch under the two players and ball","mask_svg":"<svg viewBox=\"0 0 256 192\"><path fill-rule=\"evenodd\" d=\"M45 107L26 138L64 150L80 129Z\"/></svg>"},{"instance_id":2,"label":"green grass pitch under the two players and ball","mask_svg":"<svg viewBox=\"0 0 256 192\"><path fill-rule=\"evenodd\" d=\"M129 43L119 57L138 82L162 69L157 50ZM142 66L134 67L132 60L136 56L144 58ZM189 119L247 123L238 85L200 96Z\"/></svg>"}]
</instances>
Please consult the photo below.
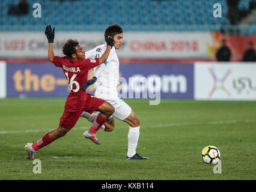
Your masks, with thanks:
<instances>
[{"instance_id":1,"label":"green grass pitch under the two players and ball","mask_svg":"<svg viewBox=\"0 0 256 192\"><path fill-rule=\"evenodd\" d=\"M256 179L256 102L126 100L141 122L137 152L149 160L125 160L129 125L115 119L115 130L97 133L102 145L84 139L91 124L75 127L38 150L41 173L26 158L25 143L58 127L64 98L0 100L0 179ZM201 151L221 151L221 173L203 163Z\"/></svg>"}]
</instances>

